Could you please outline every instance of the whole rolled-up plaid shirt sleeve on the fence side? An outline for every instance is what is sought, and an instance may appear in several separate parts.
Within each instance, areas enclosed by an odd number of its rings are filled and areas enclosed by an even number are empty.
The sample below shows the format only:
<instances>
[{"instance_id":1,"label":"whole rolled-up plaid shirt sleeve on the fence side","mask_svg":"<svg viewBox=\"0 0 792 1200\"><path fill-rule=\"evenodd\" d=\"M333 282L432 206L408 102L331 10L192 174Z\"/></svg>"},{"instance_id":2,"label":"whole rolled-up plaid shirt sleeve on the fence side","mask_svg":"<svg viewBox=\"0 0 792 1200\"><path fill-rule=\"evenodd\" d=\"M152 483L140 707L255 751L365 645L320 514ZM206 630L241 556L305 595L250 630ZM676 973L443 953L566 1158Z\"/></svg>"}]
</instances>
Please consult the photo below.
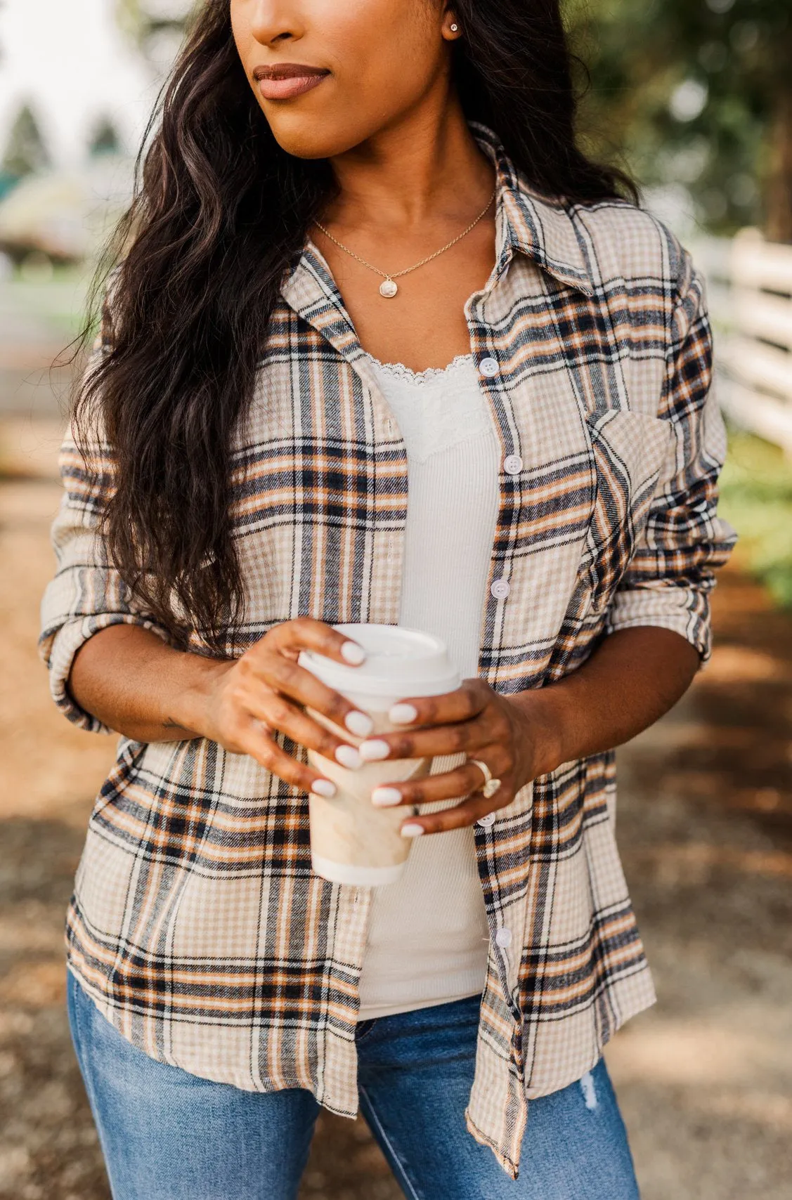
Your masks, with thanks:
<instances>
[{"instance_id":1,"label":"whole rolled-up plaid shirt sleeve on the fence side","mask_svg":"<svg viewBox=\"0 0 792 1200\"><path fill-rule=\"evenodd\" d=\"M673 437L648 521L608 608L606 629L672 629L712 654L709 593L728 559L734 529L718 516L726 428L713 382L712 331L703 281L683 257L666 379L658 415Z\"/></svg>"}]
</instances>

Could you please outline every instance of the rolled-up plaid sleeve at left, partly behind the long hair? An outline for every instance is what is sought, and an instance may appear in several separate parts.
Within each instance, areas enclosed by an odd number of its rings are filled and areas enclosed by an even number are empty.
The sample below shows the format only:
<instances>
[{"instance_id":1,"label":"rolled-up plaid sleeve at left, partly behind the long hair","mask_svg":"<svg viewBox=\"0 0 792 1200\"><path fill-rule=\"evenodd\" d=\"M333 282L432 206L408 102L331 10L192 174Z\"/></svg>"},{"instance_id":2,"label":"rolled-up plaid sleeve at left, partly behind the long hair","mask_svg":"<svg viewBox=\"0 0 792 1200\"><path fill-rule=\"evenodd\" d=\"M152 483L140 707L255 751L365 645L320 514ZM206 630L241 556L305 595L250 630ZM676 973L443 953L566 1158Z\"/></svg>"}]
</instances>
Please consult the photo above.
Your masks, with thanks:
<instances>
[{"instance_id":1,"label":"rolled-up plaid sleeve at left, partly behind the long hair","mask_svg":"<svg viewBox=\"0 0 792 1200\"><path fill-rule=\"evenodd\" d=\"M106 346L100 338L89 371ZM74 702L68 676L82 646L109 625L140 625L169 635L137 602L108 559L101 530L104 506L114 491L115 464L112 448L101 432L78 448L73 426L60 451L64 484L58 516L52 527L56 569L41 606L40 653L49 670L49 684L58 708L70 721L95 733L112 731Z\"/></svg>"}]
</instances>

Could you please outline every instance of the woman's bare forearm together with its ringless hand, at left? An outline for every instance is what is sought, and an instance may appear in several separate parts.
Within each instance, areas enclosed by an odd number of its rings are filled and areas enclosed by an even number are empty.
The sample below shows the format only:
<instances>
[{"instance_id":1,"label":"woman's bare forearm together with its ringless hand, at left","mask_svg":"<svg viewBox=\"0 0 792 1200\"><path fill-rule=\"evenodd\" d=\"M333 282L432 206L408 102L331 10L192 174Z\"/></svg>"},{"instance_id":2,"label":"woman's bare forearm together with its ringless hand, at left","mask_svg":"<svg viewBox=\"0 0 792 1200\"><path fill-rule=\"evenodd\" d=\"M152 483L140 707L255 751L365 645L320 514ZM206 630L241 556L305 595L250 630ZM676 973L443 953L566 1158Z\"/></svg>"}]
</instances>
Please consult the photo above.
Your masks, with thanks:
<instances>
[{"instance_id":1,"label":"woman's bare forearm together with its ringless hand, at left","mask_svg":"<svg viewBox=\"0 0 792 1200\"><path fill-rule=\"evenodd\" d=\"M360 766L350 738L370 733L372 721L299 665L304 650L346 666L366 658L346 634L311 617L274 625L230 661L184 654L139 626L113 625L77 654L70 690L82 708L136 742L209 738L301 792L330 797L336 785L289 754L278 734L320 758Z\"/></svg>"}]
</instances>

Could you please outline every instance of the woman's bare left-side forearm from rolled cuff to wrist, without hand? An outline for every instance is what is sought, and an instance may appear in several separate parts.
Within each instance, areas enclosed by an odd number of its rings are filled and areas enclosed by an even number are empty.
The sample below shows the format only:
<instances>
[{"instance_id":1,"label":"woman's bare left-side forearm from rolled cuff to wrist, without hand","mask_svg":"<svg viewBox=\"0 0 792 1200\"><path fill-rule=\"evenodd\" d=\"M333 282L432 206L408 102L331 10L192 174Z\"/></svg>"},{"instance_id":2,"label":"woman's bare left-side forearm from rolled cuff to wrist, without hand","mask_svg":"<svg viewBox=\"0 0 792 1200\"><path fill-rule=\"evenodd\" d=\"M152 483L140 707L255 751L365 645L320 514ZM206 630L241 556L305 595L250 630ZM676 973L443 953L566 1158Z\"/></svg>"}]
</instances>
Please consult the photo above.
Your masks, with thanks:
<instances>
[{"instance_id":1,"label":"woman's bare left-side forearm from rolled cuff to wrist, without hand","mask_svg":"<svg viewBox=\"0 0 792 1200\"><path fill-rule=\"evenodd\" d=\"M79 649L68 690L85 712L136 742L203 734L208 697L229 662L185 654L138 625L110 625Z\"/></svg>"}]
</instances>

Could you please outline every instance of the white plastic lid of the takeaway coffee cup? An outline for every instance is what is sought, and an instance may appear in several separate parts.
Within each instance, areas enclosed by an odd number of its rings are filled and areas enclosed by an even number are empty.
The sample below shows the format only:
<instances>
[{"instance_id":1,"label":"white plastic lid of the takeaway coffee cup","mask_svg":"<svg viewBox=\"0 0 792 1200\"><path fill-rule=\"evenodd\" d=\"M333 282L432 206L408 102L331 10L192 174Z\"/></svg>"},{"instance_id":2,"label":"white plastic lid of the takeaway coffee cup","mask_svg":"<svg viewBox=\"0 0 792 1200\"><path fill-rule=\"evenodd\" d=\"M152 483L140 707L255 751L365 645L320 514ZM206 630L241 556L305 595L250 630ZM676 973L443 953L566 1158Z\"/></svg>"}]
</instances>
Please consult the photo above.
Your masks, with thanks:
<instances>
[{"instance_id":1,"label":"white plastic lid of the takeaway coffee cup","mask_svg":"<svg viewBox=\"0 0 792 1200\"><path fill-rule=\"evenodd\" d=\"M334 625L366 652L359 667L346 666L313 650L302 650L300 666L342 695L443 696L460 686L460 673L439 637L401 625Z\"/></svg>"}]
</instances>

